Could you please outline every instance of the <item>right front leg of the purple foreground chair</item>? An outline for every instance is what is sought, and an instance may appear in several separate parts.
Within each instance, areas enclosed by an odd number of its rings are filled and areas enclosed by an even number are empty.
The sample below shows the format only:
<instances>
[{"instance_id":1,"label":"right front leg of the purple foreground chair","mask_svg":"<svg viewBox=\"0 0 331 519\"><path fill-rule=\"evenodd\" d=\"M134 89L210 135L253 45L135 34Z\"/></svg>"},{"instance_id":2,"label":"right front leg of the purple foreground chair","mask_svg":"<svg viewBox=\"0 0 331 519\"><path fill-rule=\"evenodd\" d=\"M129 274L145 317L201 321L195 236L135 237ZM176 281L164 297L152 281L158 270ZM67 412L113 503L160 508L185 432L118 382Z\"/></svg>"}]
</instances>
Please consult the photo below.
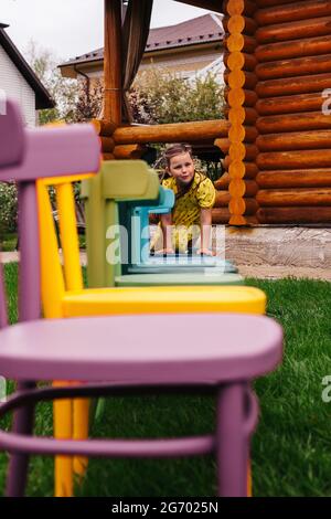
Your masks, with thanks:
<instances>
[{"instance_id":1,"label":"right front leg of the purple foreground chair","mask_svg":"<svg viewBox=\"0 0 331 519\"><path fill-rule=\"evenodd\" d=\"M216 458L221 497L247 497L248 438L244 431L244 384L220 388Z\"/></svg>"}]
</instances>

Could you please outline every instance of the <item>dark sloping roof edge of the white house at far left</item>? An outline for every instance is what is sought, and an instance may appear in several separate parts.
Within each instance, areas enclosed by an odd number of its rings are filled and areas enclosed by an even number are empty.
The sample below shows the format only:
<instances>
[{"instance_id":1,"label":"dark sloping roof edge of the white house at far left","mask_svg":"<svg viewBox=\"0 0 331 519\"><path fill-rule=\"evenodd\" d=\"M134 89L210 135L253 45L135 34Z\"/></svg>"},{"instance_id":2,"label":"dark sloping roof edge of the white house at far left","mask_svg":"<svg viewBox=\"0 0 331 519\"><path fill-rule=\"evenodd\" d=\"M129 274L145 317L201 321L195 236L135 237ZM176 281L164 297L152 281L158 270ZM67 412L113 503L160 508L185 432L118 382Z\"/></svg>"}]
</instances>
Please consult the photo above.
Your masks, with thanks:
<instances>
[{"instance_id":1,"label":"dark sloping roof edge of the white house at far left","mask_svg":"<svg viewBox=\"0 0 331 519\"><path fill-rule=\"evenodd\" d=\"M15 64L26 83L35 93L35 109L53 108L54 100L51 97L49 91L41 83L39 77L35 75L31 66L26 63L18 47L13 44L4 29L9 25L0 23L0 45L7 52L11 61Z\"/></svg>"}]
</instances>

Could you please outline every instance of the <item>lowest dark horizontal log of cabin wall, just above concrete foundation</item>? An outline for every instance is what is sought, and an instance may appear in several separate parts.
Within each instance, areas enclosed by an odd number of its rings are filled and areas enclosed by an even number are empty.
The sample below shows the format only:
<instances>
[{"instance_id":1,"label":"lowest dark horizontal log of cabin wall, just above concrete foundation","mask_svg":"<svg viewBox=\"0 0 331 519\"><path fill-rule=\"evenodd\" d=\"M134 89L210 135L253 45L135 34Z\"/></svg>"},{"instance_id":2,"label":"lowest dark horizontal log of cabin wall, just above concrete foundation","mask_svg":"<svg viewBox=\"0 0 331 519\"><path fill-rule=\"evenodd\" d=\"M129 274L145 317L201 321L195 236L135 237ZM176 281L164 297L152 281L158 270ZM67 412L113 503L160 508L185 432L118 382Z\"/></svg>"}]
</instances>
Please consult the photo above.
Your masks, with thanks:
<instances>
[{"instance_id":1,"label":"lowest dark horizontal log of cabin wall, just above concrete foundation","mask_svg":"<svg viewBox=\"0 0 331 519\"><path fill-rule=\"evenodd\" d=\"M316 205L307 205L303 208L260 208L256 216L260 223L265 224L330 223L331 208Z\"/></svg>"}]
</instances>

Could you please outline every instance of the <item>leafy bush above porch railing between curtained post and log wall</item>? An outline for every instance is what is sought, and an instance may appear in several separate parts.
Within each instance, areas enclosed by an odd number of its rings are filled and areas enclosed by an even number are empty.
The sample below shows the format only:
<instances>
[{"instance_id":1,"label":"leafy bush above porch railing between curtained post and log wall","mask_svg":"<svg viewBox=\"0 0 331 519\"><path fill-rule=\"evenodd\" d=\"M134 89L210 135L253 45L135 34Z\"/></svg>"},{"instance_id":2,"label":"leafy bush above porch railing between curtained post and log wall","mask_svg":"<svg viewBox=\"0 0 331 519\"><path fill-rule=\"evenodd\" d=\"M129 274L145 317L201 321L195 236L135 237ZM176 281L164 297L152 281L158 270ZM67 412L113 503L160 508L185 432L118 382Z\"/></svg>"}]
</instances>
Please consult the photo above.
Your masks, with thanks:
<instances>
[{"instance_id":1,"label":"leafy bush above porch railing between curtained post and log wall","mask_svg":"<svg viewBox=\"0 0 331 519\"><path fill-rule=\"evenodd\" d=\"M140 124L224 117L224 88L212 73L188 81L167 70L151 68L138 75L129 100L134 120Z\"/></svg>"}]
</instances>

